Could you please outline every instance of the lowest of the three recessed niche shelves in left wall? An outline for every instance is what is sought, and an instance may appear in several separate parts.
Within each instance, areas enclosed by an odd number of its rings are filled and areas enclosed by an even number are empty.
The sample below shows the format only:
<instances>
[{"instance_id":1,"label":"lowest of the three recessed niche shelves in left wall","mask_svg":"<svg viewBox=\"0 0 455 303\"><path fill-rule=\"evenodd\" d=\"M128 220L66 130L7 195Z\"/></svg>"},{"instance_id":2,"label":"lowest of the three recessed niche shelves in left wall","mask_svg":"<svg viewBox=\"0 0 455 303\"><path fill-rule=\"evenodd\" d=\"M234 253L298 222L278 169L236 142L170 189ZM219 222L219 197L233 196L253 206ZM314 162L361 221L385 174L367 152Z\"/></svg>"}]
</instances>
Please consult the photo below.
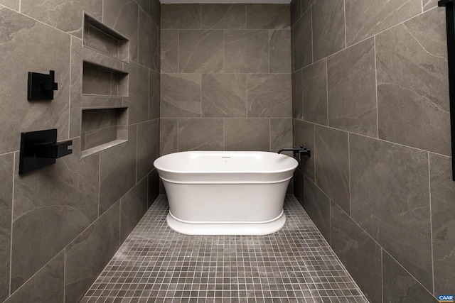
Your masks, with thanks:
<instances>
[{"instance_id":1,"label":"lowest of the three recessed niche shelves in left wall","mask_svg":"<svg viewBox=\"0 0 455 303\"><path fill-rule=\"evenodd\" d=\"M82 109L81 158L128 141L128 108Z\"/></svg>"}]
</instances>

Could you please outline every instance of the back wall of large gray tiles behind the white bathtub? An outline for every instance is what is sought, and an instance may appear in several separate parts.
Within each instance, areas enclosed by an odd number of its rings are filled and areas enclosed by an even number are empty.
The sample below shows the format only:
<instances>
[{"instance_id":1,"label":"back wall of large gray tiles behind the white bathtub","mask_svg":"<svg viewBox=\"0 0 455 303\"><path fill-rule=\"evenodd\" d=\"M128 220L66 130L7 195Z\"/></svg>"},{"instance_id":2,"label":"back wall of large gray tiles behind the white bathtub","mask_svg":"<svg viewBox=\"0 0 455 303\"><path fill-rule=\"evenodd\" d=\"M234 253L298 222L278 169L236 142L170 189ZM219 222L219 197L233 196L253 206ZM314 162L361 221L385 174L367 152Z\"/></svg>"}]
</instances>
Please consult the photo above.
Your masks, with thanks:
<instances>
[{"instance_id":1,"label":"back wall of large gray tiles behind the white bathtub","mask_svg":"<svg viewBox=\"0 0 455 303\"><path fill-rule=\"evenodd\" d=\"M160 153L292 143L285 4L161 6Z\"/></svg>"}]
</instances>

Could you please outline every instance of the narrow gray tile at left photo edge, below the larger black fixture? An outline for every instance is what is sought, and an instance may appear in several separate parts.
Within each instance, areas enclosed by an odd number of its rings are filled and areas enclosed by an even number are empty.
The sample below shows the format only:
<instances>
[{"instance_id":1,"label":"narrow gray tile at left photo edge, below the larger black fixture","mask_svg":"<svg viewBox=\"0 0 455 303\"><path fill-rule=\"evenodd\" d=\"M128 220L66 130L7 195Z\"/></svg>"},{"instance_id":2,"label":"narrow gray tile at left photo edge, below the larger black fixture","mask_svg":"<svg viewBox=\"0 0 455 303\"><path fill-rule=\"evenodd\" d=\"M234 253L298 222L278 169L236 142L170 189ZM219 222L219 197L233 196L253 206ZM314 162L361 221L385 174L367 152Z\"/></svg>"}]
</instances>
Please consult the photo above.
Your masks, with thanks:
<instances>
[{"instance_id":1,"label":"narrow gray tile at left photo edge, below the larger black fixture","mask_svg":"<svg viewBox=\"0 0 455 303\"><path fill-rule=\"evenodd\" d=\"M14 154L0 156L0 301L9 295Z\"/></svg>"}]
</instances>

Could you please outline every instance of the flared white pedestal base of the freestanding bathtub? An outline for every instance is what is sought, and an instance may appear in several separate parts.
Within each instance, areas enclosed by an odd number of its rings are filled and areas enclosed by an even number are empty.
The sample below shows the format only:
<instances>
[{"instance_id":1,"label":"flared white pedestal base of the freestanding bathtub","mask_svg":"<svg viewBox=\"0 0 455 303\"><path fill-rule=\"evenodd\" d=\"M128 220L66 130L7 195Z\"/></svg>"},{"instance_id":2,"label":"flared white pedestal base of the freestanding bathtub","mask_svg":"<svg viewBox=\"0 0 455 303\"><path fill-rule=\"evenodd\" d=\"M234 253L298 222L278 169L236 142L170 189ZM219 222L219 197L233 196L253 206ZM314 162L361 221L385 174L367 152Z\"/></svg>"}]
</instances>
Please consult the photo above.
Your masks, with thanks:
<instances>
[{"instance_id":1,"label":"flared white pedestal base of the freestanding bathtub","mask_svg":"<svg viewBox=\"0 0 455 303\"><path fill-rule=\"evenodd\" d=\"M168 226L178 233L199 236L264 236L279 231L286 223L284 212L270 221L259 222L188 222L169 212Z\"/></svg>"}]
</instances>

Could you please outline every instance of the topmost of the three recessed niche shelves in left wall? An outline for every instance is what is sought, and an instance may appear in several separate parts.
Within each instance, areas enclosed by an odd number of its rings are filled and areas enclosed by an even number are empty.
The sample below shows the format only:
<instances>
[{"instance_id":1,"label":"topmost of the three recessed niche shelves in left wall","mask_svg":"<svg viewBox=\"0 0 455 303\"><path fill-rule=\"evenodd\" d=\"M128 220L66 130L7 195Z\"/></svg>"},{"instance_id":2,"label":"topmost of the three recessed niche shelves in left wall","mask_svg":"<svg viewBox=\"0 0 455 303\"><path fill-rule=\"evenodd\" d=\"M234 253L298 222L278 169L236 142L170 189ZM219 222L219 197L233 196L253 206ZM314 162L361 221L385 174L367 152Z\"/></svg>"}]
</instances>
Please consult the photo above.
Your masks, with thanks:
<instances>
[{"instance_id":1,"label":"topmost of the three recessed niche shelves in left wall","mask_svg":"<svg viewBox=\"0 0 455 303\"><path fill-rule=\"evenodd\" d=\"M109 57L129 61L129 39L84 13L83 45Z\"/></svg>"}]
</instances>

